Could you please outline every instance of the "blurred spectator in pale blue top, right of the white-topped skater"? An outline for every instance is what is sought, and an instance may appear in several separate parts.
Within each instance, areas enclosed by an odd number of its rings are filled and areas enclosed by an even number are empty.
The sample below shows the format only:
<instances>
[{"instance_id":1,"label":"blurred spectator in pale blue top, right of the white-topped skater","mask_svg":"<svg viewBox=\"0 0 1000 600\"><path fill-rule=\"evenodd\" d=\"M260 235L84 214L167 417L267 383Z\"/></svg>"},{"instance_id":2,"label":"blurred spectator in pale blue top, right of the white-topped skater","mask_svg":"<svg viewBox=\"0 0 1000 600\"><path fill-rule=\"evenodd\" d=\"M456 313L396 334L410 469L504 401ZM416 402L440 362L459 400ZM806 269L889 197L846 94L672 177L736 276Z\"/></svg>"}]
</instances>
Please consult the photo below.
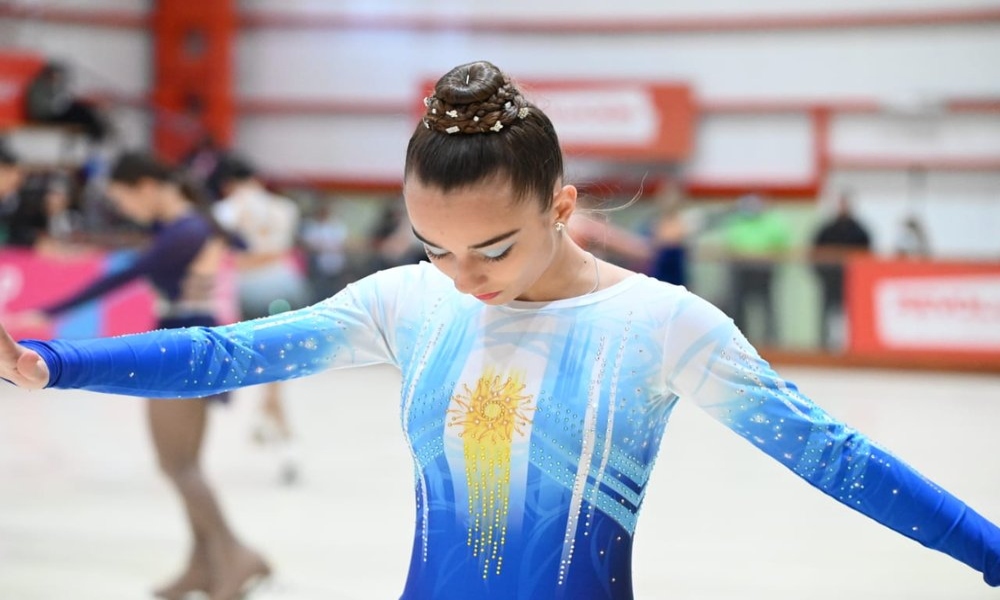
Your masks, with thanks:
<instances>
[{"instance_id":1,"label":"blurred spectator in pale blue top, right of the white-topped skater","mask_svg":"<svg viewBox=\"0 0 1000 600\"><path fill-rule=\"evenodd\" d=\"M309 281L315 301L325 300L346 284L347 226L329 203L320 204L302 227L302 245L309 253Z\"/></svg>"}]
</instances>

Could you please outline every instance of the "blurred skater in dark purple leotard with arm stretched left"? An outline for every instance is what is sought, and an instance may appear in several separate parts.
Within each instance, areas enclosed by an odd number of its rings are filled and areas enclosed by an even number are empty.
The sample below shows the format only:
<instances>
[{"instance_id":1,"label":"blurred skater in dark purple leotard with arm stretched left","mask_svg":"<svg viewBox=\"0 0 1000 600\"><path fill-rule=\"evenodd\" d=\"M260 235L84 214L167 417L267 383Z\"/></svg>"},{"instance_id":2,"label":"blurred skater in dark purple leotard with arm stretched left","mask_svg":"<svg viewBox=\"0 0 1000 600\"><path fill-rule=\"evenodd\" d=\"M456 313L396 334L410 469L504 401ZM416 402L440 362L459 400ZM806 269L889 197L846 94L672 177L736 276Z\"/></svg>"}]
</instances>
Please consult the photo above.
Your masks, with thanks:
<instances>
[{"instance_id":1,"label":"blurred skater in dark purple leotard with arm stretched left","mask_svg":"<svg viewBox=\"0 0 1000 600\"><path fill-rule=\"evenodd\" d=\"M212 285L226 238L210 217L197 210L197 192L153 157L128 153L111 170L108 195L127 218L156 227L152 244L128 268L42 309L44 316L59 315L145 277L162 300L159 328L214 325ZM232 600L248 582L270 570L230 529L201 471L208 404L224 399L223 390L218 390L204 399L147 403L160 468L184 502L194 538L184 572L155 591L165 600L180 600L196 590L207 592L211 600Z\"/></svg>"}]
</instances>

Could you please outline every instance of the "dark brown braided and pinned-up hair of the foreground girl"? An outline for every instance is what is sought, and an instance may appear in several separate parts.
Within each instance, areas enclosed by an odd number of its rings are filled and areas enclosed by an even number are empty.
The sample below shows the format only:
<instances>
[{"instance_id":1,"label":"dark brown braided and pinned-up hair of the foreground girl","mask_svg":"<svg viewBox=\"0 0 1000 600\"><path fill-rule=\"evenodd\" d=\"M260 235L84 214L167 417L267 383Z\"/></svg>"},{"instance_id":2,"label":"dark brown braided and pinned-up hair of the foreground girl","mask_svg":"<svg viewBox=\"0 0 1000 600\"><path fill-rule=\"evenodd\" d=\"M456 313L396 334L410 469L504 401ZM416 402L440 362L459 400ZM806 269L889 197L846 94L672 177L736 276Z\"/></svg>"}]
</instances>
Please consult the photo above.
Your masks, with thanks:
<instances>
[{"instance_id":1,"label":"dark brown braided and pinned-up hair of the foreground girl","mask_svg":"<svg viewBox=\"0 0 1000 600\"><path fill-rule=\"evenodd\" d=\"M406 148L404 178L448 192L501 177L518 200L551 206L563 176L559 139L503 71L486 61L455 67L424 104Z\"/></svg>"}]
</instances>

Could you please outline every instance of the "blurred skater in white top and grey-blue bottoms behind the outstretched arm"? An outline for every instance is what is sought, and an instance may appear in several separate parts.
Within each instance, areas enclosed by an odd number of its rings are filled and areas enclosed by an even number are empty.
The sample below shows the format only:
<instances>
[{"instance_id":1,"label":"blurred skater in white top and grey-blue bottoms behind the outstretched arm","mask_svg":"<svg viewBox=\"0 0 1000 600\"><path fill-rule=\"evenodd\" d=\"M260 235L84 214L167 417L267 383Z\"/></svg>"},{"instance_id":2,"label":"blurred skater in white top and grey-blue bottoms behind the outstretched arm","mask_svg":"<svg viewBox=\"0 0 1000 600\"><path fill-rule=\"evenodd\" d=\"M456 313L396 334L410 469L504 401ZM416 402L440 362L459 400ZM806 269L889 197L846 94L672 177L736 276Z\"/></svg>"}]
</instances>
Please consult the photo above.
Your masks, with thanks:
<instances>
[{"instance_id":1,"label":"blurred skater in white top and grey-blue bottoms behind the outstretched arm","mask_svg":"<svg viewBox=\"0 0 1000 600\"><path fill-rule=\"evenodd\" d=\"M246 245L246 251L236 261L241 318L266 317L308 304L308 284L294 255L300 219L298 205L268 191L258 179L256 169L235 155L222 159L219 185L225 197L213 207L215 218ZM298 478L298 464L292 452L283 389L282 382L264 386L254 438L274 444L281 451L281 478L292 483Z\"/></svg>"}]
</instances>

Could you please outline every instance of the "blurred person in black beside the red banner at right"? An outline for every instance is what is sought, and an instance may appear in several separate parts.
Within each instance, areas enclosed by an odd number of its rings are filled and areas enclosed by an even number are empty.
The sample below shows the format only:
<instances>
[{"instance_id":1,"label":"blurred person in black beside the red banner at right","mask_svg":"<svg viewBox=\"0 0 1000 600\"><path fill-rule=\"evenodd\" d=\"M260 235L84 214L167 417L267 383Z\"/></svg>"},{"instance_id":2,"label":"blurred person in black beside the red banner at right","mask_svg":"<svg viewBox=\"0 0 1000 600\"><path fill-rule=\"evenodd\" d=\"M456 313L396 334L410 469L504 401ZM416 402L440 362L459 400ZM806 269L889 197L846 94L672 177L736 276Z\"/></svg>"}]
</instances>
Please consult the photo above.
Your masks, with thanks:
<instances>
[{"instance_id":1,"label":"blurred person in black beside the red banner at right","mask_svg":"<svg viewBox=\"0 0 1000 600\"><path fill-rule=\"evenodd\" d=\"M840 350L846 345L844 261L852 253L869 250L871 236L852 212L850 192L842 192L837 199L837 212L813 239L813 264L823 291L819 330L824 348Z\"/></svg>"}]
</instances>

